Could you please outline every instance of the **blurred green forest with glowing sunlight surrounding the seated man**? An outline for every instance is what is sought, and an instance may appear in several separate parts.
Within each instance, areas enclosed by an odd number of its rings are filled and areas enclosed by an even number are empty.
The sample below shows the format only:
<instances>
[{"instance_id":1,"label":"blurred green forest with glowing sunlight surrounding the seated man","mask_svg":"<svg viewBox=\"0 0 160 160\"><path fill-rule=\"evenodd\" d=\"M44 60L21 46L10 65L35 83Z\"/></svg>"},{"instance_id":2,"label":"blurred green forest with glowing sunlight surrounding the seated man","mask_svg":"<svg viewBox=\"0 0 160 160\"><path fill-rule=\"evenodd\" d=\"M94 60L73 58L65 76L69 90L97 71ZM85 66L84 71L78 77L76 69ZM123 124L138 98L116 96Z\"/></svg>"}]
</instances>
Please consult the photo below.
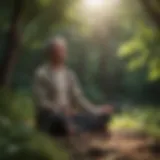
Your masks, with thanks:
<instances>
[{"instance_id":1,"label":"blurred green forest with glowing sunlight surrounding the seated man","mask_svg":"<svg viewBox=\"0 0 160 160\"><path fill-rule=\"evenodd\" d=\"M34 70L46 59L45 41L57 35L68 41L67 63L86 97L116 106L111 129L160 135L159 0L5 0L0 2L1 160L24 153L26 159L53 159L53 143L33 129L31 89Z\"/></svg>"}]
</instances>

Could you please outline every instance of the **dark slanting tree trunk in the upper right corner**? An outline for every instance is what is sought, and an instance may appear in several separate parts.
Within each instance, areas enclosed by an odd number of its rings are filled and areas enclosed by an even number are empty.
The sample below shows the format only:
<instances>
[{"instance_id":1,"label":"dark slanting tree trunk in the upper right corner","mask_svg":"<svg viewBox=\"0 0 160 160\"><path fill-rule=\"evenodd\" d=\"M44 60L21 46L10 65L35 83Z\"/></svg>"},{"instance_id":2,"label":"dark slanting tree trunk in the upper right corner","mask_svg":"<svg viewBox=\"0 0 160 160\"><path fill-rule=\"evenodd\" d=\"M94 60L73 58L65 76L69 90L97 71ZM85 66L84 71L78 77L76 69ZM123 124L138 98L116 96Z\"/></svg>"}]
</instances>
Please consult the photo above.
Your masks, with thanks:
<instances>
[{"instance_id":1,"label":"dark slanting tree trunk in the upper right corner","mask_svg":"<svg viewBox=\"0 0 160 160\"><path fill-rule=\"evenodd\" d=\"M157 28L160 30L160 12L152 6L152 0L140 0L142 6L144 7L145 11L149 14L151 19L154 21ZM159 4L159 2L157 2Z\"/></svg>"}]
</instances>

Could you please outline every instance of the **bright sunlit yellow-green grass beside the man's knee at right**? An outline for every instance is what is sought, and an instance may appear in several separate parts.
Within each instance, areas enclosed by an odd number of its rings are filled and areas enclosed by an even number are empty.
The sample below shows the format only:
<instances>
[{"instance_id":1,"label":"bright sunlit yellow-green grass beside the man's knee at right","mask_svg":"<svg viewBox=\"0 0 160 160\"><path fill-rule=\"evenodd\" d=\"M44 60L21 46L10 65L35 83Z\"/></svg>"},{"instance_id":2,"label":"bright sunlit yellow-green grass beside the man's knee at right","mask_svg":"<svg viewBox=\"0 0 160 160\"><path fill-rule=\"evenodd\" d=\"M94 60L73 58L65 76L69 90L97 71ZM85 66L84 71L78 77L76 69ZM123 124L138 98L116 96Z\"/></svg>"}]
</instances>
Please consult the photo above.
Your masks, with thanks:
<instances>
[{"instance_id":1,"label":"bright sunlit yellow-green grass beside the man's knee at right","mask_svg":"<svg viewBox=\"0 0 160 160\"><path fill-rule=\"evenodd\" d=\"M145 131L152 136L160 136L160 109L158 107L131 108L113 117L110 124L112 130L133 129Z\"/></svg>"}]
</instances>

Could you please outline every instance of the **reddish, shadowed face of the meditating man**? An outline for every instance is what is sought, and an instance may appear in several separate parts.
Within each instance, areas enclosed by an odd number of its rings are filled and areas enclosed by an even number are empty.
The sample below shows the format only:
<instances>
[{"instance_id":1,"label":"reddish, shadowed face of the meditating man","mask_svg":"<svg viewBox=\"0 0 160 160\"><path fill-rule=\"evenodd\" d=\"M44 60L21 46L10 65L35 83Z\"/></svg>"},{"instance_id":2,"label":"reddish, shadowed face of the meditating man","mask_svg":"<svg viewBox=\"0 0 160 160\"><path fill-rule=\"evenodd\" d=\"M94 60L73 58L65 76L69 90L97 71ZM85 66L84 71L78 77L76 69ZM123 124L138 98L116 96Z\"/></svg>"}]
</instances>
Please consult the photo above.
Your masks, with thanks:
<instances>
[{"instance_id":1,"label":"reddish, shadowed face of the meditating man","mask_svg":"<svg viewBox=\"0 0 160 160\"><path fill-rule=\"evenodd\" d=\"M53 44L50 50L51 61L63 63L67 56L67 49L64 44L56 43Z\"/></svg>"}]
</instances>

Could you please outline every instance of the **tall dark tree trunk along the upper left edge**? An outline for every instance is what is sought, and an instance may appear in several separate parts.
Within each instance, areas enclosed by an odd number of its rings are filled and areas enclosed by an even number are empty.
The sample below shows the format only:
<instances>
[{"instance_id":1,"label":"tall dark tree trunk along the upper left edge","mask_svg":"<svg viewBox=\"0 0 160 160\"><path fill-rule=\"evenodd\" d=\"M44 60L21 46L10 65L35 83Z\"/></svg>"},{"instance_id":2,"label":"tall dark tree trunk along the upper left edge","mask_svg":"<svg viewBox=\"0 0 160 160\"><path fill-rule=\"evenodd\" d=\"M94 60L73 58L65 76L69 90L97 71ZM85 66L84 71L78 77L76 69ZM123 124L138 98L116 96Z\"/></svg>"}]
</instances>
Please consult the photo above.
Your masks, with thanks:
<instances>
[{"instance_id":1,"label":"tall dark tree trunk along the upper left edge","mask_svg":"<svg viewBox=\"0 0 160 160\"><path fill-rule=\"evenodd\" d=\"M19 47L18 25L20 21L22 0L14 0L11 25L8 33L6 50L0 64L0 87L9 87L11 77L17 59L17 48Z\"/></svg>"}]
</instances>

